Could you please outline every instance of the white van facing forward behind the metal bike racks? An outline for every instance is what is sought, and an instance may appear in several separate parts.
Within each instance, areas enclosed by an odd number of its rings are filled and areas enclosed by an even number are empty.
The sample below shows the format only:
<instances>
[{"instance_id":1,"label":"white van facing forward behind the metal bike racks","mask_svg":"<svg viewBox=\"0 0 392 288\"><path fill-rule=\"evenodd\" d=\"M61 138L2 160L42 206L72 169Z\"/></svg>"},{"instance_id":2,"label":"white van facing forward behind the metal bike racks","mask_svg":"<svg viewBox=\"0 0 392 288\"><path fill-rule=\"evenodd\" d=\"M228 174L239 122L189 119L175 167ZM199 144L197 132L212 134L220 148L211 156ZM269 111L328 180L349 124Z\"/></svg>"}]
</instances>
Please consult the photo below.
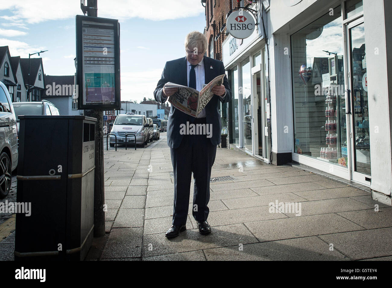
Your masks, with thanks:
<instances>
[{"instance_id":1,"label":"white van facing forward behind the metal bike racks","mask_svg":"<svg viewBox=\"0 0 392 288\"><path fill-rule=\"evenodd\" d=\"M112 127L110 132L117 136L117 144L125 143L125 133L128 132L135 132L136 144L143 147L150 141L150 122L144 115L132 112L118 114L114 123L110 123L109 126ZM114 147L115 143L114 136L110 135L110 147ZM134 136L128 136L127 143L135 143Z\"/></svg>"}]
</instances>

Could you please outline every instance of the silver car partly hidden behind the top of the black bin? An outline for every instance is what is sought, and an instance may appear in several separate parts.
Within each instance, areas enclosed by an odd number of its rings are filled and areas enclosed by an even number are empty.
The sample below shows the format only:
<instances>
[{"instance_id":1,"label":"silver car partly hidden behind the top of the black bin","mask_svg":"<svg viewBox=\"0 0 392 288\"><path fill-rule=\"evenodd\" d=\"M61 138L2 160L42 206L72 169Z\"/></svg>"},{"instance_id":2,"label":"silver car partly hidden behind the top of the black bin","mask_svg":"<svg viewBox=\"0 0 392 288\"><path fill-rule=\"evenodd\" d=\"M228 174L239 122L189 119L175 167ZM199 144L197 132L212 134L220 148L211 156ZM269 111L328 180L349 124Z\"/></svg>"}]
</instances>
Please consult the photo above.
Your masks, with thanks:
<instances>
[{"instance_id":1,"label":"silver car partly hidden behind the top of the black bin","mask_svg":"<svg viewBox=\"0 0 392 288\"><path fill-rule=\"evenodd\" d=\"M19 137L19 115L60 115L60 110L51 102L14 102L16 125Z\"/></svg>"}]
</instances>

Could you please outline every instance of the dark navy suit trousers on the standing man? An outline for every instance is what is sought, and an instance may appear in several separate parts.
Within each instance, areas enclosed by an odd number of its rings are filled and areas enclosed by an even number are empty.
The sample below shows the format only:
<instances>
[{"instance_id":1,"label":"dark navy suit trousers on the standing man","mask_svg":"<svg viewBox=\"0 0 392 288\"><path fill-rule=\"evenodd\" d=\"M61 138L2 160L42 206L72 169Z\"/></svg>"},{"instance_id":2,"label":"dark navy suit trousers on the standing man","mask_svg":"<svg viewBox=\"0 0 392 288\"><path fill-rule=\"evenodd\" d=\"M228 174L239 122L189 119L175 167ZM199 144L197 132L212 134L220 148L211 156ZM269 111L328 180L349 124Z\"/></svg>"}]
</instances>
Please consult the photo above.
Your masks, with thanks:
<instances>
[{"instance_id":1,"label":"dark navy suit trousers on the standing man","mask_svg":"<svg viewBox=\"0 0 392 288\"><path fill-rule=\"evenodd\" d=\"M196 118L192 124L205 123L206 118ZM212 133L211 130L209 131ZM210 139L205 134L185 134L180 146L170 149L174 174L172 225L185 225L187 222L192 172L194 178L192 216L196 221L207 220L211 167L216 156L216 145L213 145Z\"/></svg>"}]
</instances>

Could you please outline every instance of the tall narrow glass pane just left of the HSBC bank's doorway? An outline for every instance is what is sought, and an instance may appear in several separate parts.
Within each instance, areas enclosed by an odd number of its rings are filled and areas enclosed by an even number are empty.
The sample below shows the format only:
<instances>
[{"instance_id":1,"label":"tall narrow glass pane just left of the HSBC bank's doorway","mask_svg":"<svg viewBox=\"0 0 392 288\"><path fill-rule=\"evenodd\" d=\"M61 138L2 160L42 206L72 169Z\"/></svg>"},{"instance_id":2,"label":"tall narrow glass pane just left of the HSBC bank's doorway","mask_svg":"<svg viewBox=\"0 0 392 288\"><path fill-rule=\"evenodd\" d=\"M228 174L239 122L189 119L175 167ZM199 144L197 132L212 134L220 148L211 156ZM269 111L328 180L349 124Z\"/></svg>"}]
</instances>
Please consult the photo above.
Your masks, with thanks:
<instances>
[{"instance_id":1,"label":"tall narrow glass pane just left of the HSBC bank's doorway","mask_svg":"<svg viewBox=\"0 0 392 288\"><path fill-rule=\"evenodd\" d=\"M242 89L242 130L243 130L243 145L242 147L252 151L252 104L251 104L251 86L250 86L250 61L247 58L241 62L241 82Z\"/></svg>"}]
</instances>

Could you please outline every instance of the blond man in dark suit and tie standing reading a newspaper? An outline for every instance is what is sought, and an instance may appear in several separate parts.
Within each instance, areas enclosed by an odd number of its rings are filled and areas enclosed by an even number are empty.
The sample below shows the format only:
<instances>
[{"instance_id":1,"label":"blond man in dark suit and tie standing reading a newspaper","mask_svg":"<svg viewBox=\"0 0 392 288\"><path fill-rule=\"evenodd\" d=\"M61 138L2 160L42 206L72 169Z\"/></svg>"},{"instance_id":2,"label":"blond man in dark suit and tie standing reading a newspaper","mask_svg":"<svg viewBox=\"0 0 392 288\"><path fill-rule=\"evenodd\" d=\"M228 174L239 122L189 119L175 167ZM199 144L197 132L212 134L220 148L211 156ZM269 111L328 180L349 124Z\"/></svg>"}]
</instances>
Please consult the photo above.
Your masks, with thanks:
<instances>
[{"instance_id":1,"label":"blond man in dark suit and tie standing reading a newspaper","mask_svg":"<svg viewBox=\"0 0 392 288\"><path fill-rule=\"evenodd\" d=\"M177 88L165 88L167 82L192 87L198 91L216 76L225 74L223 62L204 56L207 51L207 38L193 31L185 38L185 54L180 59L166 62L161 79L154 91L155 100L164 103ZM194 193L192 216L196 220L200 234L211 233L207 222L209 214L211 167L215 161L216 146L221 141L221 118L218 111L219 101L229 102L231 90L225 76L223 85L212 88L212 96L197 118L189 116L171 106L167 121L167 144L170 147L174 172L174 207L172 226L166 237L176 237L186 230L189 209L189 192L193 172ZM212 127L212 135L193 135L180 132L180 125L187 122L205 124ZM183 130L181 130L183 131ZM211 131L210 131L211 133Z\"/></svg>"}]
</instances>

